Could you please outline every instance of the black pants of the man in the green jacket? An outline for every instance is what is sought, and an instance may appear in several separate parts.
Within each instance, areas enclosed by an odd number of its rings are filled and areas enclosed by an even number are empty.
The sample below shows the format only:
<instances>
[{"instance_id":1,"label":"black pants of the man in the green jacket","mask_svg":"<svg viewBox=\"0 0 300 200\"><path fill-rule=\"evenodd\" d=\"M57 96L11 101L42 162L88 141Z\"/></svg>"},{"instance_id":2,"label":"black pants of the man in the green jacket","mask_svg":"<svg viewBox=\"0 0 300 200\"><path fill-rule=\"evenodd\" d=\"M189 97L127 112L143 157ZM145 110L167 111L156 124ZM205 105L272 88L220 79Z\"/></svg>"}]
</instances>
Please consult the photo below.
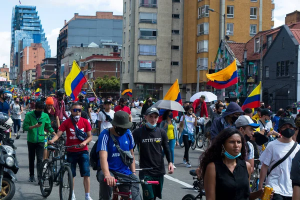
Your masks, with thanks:
<instances>
[{"instance_id":1,"label":"black pants of the man in the green jacket","mask_svg":"<svg viewBox=\"0 0 300 200\"><path fill-rule=\"evenodd\" d=\"M42 164L44 142L32 143L27 141L27 147L28 147L28 160L29 160L29 176L34 175L34 161L36 155L36 171L37 171L37 179L39 179L39 173Z\"/></svg>"}]
</instances>

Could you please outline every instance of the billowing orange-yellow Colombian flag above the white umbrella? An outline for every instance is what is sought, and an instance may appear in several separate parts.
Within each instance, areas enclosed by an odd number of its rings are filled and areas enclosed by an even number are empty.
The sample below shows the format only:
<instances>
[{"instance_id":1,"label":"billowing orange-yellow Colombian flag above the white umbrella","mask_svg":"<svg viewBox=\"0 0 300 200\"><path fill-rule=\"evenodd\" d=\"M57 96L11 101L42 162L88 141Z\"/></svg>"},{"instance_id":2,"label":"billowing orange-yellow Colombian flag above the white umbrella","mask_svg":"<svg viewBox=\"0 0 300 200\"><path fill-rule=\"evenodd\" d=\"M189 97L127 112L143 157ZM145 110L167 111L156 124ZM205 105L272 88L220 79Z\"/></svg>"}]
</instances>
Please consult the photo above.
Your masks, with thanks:
<instances>
[{"instance_id":1,"label":"billowing orange-yellow Colombian flag above the white umbrella","mask_svg":"<svg viewBox=\"0 0 300 200\"><path fill-rule=\"evenodd\" d=\"M236 60L227 66L226 68L215 72L206 73L206 77L209 79L208 85L213 86L216 89L223 89L237 83L237 71Z\"/></svg>"}]
</instances>

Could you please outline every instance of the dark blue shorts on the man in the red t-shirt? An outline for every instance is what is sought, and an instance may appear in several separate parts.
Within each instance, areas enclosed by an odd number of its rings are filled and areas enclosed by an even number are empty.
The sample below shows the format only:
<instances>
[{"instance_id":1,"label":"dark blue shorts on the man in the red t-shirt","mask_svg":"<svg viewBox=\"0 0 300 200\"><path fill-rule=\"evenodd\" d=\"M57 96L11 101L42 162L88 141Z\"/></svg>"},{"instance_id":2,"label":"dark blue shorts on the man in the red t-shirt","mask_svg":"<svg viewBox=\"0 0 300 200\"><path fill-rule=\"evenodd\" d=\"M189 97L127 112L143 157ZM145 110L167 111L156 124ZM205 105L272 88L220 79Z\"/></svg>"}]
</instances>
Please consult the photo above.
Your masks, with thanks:
<instances>
[{"instance_id":1,"label":"dark blue shorts on the man in the red t-shirt","mask_svg":"<svg viewBox=\"0 0 300 200\"><path fill-rule=\"evenodd\" d=\"M66 161L71 164L73 177L76 176L76 165L79 165L80 176L89 176L89 157L88 151L67 152Z\"/></svg>"}]
</instances>

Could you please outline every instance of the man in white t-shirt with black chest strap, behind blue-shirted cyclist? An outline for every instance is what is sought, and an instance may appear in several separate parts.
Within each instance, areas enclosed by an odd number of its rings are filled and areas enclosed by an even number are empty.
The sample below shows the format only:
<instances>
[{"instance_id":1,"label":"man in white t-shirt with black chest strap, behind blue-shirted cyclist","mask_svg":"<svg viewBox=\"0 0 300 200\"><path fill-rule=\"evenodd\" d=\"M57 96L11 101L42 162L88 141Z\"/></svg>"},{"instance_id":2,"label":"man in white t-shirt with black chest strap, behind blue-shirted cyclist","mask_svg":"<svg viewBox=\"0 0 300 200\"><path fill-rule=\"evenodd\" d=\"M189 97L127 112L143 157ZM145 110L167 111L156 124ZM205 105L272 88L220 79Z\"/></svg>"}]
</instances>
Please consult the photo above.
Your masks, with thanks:
<instances>
[{"instance_id":1,"label":"man in white t-shirt with black chest strap, behind blue-shirted cyclist","mask_svg":"<svg viewBox=\"0 0 300 200\"><path fill-rule=\"evenodd\" d=\"M112 127L111 121L113 119L114 111L111 108L111 100L104 101L104 109L101 110L98 114L98 127L100 127L100 132L106 128Z\"/></svg>"}]
</instances>

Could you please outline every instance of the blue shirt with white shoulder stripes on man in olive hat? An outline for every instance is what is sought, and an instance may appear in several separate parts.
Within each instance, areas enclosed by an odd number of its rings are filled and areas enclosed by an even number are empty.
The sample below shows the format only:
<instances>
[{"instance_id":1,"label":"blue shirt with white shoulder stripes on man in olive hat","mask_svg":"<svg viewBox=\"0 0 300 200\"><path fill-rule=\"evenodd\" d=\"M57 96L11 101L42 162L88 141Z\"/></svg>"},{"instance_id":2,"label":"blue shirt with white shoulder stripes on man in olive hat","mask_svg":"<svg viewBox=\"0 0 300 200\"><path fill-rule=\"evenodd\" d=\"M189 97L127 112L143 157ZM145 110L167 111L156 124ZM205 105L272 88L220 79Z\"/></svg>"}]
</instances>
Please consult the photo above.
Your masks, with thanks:
<instances>
[{"instance_id":1,"label":"blue shirt with white shoulder stripes on man in olive hat","mask_svg":"<svg viewBox=\"0 0 300 200\"><path fill-rule=\"evenodd\" d=\"M134 140L132 133L129 129L127 132L122 136L114 136L115 139L118 141L119 146L122 150L130 150L134 146ZM119 154L119 151L115 147L111 136L109 135L109 131L104 129L99 137L97 143L97 153L100 150L107 151L107 162L109 170L117 171L119 173L123 173L126 175L130 175L132 172L130 171L129 167L124 164L122 158ZM98 165L100 166L100 160L98 161Z\"/></svg>"}]
</instances>

